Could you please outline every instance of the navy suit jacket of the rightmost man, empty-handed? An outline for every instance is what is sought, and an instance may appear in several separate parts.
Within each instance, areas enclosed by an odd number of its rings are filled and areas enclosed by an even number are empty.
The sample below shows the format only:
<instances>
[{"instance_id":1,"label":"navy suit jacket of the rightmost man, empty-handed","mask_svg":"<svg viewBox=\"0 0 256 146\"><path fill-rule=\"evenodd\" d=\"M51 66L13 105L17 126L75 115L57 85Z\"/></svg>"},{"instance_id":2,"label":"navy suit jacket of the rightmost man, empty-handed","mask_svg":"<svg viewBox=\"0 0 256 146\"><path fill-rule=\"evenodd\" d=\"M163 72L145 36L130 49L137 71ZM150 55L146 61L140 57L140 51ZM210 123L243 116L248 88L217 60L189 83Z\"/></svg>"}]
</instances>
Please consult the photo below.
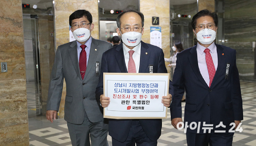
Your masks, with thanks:
<instances>
[{"instance_id":1,"label":"navy suit jacket of the rightmost man, empty-handed","mask_svg":"<svg viewBox=\"0 0 256 146\"><path fill-rule=\"evenodd\" d=\"M228 130L234 120L243 120L242 98L239 75L236 65L236 51L215 44L218 54L218 67L211 83L207 86L197 60L196 46L177 54L176 69L173 75L174 96L171 104L171 119L181 118L181 99L186 90L184 122L213 124L213 130ZM227 69L227 64L230 64ZM226 75L226 71L228 75ZM220 122L226 128L216 128ZM185 124L185 123L184 123ZM197 133L197 129L187 129Z\"/></svg>"}]
</instances>

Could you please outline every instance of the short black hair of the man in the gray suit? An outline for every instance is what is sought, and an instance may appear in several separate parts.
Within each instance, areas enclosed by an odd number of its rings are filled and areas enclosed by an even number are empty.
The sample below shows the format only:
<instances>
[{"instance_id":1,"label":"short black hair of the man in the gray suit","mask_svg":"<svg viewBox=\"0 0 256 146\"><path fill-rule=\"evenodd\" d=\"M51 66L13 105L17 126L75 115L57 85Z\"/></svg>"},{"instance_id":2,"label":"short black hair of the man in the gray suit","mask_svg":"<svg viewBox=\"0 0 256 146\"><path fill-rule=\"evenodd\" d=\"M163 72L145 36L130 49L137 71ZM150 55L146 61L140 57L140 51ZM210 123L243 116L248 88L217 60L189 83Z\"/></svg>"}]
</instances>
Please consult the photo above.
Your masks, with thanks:
<instances>
[{"instance_id":1,"label":"short black hair of the man in the gray suit","mask_svg":"<svg viewBox=\"0 0 256 146\"><path fill-rule=\"evenodd\" d=\"M86 10L76 10L69 16L69 25L72 26L72 20L79 19L85 16L90 24L92 23L92 15Z\"/></svg>"}]
</instances>

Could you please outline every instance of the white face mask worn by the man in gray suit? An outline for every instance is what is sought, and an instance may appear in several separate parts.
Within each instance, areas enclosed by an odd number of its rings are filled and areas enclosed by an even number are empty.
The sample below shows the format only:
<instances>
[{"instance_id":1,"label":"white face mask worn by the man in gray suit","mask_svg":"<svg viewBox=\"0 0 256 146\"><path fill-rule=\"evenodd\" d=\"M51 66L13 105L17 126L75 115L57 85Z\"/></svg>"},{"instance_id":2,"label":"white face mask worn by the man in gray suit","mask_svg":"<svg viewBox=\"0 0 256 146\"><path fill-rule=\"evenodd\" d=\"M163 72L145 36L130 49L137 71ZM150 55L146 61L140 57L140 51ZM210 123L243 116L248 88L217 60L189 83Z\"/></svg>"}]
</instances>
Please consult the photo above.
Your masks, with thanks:
<instances>
[{"instance_id":1,"label":"white face mask worn by the man in gray suit","mask_svg":"<svg viewBox=\"0 0 256 146\"><path fill-rule=\"evenodd\" d=\"M90 37L90 30L88 30L87 28L78 28L73 31L73 35L76 41L84 42L87 41Z\"/></svg>"}]
</instances>

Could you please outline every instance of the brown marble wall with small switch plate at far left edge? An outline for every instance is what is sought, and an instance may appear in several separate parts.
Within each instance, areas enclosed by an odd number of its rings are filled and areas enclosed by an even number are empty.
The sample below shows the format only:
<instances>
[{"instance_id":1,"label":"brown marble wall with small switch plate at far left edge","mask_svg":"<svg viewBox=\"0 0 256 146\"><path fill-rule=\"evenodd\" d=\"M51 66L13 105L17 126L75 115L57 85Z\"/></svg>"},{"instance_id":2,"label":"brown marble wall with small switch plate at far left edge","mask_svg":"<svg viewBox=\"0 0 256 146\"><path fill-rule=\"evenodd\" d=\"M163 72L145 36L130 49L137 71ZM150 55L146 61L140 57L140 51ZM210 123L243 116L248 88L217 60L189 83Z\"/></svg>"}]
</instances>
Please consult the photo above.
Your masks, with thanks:
<instances>
[{"instance_id":1,"label":"brown marble wall with small switch plate at far left edge","mask_svg":"<svg viewBox=\"0 0 256 146\"><path fill-rule=\"evenodd\" d=\"M29 146L21 0L0 0L0 145Z\"/></svg>"}]
</instances>

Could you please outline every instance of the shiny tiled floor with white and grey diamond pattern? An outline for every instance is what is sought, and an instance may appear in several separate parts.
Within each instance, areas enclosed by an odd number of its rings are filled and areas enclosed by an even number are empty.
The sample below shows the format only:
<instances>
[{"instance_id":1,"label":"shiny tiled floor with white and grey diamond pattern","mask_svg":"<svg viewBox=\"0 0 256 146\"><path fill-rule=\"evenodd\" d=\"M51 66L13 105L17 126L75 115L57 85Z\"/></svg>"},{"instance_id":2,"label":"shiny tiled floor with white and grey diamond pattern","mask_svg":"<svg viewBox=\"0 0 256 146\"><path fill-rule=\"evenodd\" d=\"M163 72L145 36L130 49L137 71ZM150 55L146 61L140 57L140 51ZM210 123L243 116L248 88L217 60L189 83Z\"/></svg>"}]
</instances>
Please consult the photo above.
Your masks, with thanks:
<instances>
[{"instance_id":1,"label":"shiny tiled floor with white and grey diamond pattern","mask_svg":"<svg viewBox=\"0 0 256 146\"><path fill-rule=\"evenodd\" d=\"M256 82L241 82L244 120L241 133L235 132L233 146L256 146ZM184 113L185 103L182 103ZM51 124L45 116L29 119L30 146L72 146L68 134L67 123L58 119ZM108 136L109 146L112 146ZM168 118L162 122L162 135L158 146L187 146L184 131L174 129Z\"/></svg>"}]
</instances>

